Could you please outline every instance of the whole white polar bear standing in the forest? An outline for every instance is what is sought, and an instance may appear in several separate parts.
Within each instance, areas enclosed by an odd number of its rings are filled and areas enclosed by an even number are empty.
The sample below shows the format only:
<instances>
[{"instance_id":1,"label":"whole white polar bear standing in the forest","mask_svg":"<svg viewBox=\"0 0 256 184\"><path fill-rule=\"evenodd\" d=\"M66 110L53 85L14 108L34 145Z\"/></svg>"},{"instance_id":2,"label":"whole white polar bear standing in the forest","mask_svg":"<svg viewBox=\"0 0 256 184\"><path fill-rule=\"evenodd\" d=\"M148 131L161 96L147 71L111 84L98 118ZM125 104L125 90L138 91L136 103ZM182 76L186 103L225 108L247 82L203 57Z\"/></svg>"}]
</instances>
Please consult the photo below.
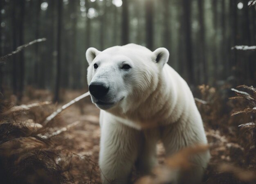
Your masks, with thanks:
<instances>
[{"instance_id":1,"label":"whole white polar bear standing in the forest","mask_svg":"<svg viewBox=\"0 0 256 184\"><path fill-rule=\"evenodd\" d=\"M187 83L167 63L169 52L128 44L100 52L88 48L86 59L92 102L101 109L99 166L104 184L125 184L132 166L148 173L156 164L156 144L166 155L207 144L202 118ZM190 172L177 183L199 183L209 152L191 158Z\"/></svg>"}]
</instances>

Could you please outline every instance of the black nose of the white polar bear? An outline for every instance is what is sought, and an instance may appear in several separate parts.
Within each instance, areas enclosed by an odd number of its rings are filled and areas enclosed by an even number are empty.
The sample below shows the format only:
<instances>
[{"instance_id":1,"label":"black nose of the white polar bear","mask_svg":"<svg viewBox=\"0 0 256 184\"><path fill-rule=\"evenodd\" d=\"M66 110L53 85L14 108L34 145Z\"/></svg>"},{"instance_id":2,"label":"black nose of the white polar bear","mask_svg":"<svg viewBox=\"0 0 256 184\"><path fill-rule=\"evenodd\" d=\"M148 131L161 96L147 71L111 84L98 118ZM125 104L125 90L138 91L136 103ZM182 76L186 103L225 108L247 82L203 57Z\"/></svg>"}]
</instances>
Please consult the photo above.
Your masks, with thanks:
<instances>
[{"instance_id":1,"label":"black nose of the white polar bear","mask_svg":"<svg viewBox=\"0 0 256 184\"><path fill-rule=\"evenodd\" d=\"M106 87L103 83L91 83L89 85L89 91L92 96L96 99L104 97L108 93L109 88Z\"/></svg>"}]
</instances>

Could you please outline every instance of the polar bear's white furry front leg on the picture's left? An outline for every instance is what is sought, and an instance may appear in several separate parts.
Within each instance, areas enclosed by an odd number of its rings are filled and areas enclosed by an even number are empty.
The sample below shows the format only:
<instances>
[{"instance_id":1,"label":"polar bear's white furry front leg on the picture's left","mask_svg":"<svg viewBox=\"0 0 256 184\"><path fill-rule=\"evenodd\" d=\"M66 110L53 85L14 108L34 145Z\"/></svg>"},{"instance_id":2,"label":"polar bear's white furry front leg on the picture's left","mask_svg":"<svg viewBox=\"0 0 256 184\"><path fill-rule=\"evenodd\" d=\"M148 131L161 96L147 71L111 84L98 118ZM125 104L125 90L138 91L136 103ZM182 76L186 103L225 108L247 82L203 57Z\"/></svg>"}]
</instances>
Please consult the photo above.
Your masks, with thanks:
<instances>
[{"instance_id":1,"label":"polar bear's white furry front leg on the picture's left","mask_svg":"<svg viewBox=\"0 0 256 184\"><path fill-rule=\"evenodd\" d=\"M106 119L101 124L101 180L103 184L126 184L138 156L141 135L136 129Z\"/></svg>"}]
</instances>

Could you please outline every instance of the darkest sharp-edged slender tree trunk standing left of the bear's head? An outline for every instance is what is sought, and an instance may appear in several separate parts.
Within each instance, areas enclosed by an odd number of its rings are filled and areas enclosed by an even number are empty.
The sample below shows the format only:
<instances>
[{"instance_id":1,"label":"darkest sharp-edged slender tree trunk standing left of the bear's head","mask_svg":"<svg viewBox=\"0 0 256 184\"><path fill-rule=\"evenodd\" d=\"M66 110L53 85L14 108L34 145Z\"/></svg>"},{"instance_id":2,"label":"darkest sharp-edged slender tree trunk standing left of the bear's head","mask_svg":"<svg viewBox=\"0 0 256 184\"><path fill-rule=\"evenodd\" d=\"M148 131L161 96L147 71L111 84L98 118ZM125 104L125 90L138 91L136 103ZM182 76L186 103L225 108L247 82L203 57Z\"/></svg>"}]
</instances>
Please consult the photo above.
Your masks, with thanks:
<instances>
[{"instance_id":1,"label":"darkest sharp-edged slender tree trunk standing left of the bear's head","mask_svg":"<svg viewBox=\"0 0 256 184\"><path fill-rule=\"evenodd\" d=\"M63 0L58 0L58 28L57 28L57 67L56 67L56 84L54 101L59 101L59 91L61 82L61 35L62 35L62 11L63 11Z\"/></svg>"}]
</instances>

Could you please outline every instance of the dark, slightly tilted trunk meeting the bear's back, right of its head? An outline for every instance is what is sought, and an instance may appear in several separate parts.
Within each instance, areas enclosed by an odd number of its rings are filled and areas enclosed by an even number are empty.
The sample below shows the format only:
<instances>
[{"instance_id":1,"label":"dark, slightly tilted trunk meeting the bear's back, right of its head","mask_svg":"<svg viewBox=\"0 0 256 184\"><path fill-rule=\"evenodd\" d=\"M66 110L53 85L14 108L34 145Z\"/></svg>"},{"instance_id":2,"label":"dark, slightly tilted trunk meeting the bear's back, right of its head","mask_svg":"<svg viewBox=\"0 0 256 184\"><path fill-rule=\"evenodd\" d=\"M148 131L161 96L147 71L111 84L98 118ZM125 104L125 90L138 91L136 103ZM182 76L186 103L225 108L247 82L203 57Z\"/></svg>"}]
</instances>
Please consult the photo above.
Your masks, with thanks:
<instances>
[{"instance_id":1,"label":"dark, slightly tilted trunk meeting the bear's back, right of its head","mask_svg":"<svg viewBox=\"0 0 256 184\"><path fill-rule=\"evenodd\" d=\"M191 1L182 0L182 7L184 12L184 28L185 28L185 40L186 40L186 69L187 69L187 81L193 85L194 78L194 62L192 52L192 38L191 38Z\"/></svg>"}]
</instances>

